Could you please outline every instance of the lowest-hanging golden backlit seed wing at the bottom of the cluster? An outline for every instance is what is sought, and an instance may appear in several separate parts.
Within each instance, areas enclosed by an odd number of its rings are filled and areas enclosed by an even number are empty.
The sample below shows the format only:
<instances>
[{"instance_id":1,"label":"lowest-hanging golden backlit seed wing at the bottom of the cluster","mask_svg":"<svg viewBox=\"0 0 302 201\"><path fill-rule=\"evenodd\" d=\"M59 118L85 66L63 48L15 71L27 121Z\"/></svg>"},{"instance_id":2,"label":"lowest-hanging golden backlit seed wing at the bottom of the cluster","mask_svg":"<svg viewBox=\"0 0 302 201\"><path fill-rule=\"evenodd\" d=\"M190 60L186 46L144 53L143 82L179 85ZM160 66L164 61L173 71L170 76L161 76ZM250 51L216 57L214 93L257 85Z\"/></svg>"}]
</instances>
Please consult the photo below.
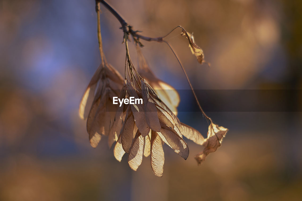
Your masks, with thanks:
<instances>
[{"instance_id":1,"label":"lowest-hanging golden backlit seed wing at the bottom of the cluster","mask_svg":"<svg viewBox=\"0 0 302 201\"><path fill-rule=\"evenodd\" d=\"M150 160L153 173L158 177L162 177L162 173L164 171L165 156L164 151L162 149L162 140L155 131L152 131L151 134Z\"/></svg>"}]
</instances>

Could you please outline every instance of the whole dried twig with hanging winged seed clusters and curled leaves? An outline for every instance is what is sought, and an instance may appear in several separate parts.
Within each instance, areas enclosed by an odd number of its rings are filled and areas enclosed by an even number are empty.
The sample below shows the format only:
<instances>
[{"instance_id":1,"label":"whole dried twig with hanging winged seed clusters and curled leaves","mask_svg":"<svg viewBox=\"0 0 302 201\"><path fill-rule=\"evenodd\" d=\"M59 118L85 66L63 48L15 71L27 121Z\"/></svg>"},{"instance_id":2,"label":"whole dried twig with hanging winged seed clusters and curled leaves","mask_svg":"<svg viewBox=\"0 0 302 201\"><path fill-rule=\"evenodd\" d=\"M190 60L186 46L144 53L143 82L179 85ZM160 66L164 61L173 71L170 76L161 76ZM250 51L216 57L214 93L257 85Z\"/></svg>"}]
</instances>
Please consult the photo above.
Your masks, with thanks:
<instances>
[{"instance_id":1,"label":"whole dried twig with hanging winged seed clusters and curled leaves","mask_svg":"<svg viewBox=\"0 0 302 201\"><path fill-rule=\"evenodd\" d=\"M120 21L121 29L124 32L123 43L126 47L124 79L107 63L104 56L100 28L100 3ZM102 135L108 135L110 148L116 142L114 156L117 160L120 161L123 155L128 153L129 166L133 170L137 170L142 163L143 156L150 155L153 172L156 176L161 177L164 165L162 144L168 144L177 154L187 159L189 148L182 138L185 136L196 144L204 146L203 151L195 156L200 164L209 153L220 147L228 129L214 124L204 113L185 69L170 44L164 40L176 28L181 28L181 35L188 39L192 54L196 56L199 63L204 63L203 51L195 44L193 35L181 26L174 28L163 37L150 38L137 34L138 31L134 31L133 27L128 25L108 3L102 0L96 0L96 12L101 65L93 75L79 108L80 117L87 118L87 132L92 147L95 148L98 145ZM137 69L129 55L130 35L137 47L139 58L139 68ZM166 43L171 48L185 73L199 109L209 123L207 138L204 138L194 128L179 121L176 116L176 108L180 101L179 94L172 86L156 78L152 73L140 51L140 48L143 47L141 40ZM114 105L113 96L118 96L120 99L141 98L143 104L130 104L127 107L124 103L121 103L121 106Z\"/></svg>"}]
</instances>

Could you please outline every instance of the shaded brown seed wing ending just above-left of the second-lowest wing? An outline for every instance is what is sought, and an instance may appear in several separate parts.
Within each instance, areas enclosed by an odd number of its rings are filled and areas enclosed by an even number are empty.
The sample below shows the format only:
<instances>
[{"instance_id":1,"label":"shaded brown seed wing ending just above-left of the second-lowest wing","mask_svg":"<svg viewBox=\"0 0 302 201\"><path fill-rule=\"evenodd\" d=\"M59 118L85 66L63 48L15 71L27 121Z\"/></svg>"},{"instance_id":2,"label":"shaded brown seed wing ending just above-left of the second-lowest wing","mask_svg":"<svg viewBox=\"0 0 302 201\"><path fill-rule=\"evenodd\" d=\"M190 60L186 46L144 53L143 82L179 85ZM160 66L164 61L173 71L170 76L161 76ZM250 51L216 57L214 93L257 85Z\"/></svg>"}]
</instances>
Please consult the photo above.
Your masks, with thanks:
<instances>
[{"instance_id":1,"label":"shaded brown seed wing ending just above-left of the second-lowest wing","mask_svg":"<svg viewBox=\"0 0 302 201\"><path fill-rule=\"evenodd\" d=\"M129 149L132 144L133 130L134 130L134 118L130 106L128 106L124 125L120 133L122 146L126 153L129 153Z\"/></svg>"}]
</instances>

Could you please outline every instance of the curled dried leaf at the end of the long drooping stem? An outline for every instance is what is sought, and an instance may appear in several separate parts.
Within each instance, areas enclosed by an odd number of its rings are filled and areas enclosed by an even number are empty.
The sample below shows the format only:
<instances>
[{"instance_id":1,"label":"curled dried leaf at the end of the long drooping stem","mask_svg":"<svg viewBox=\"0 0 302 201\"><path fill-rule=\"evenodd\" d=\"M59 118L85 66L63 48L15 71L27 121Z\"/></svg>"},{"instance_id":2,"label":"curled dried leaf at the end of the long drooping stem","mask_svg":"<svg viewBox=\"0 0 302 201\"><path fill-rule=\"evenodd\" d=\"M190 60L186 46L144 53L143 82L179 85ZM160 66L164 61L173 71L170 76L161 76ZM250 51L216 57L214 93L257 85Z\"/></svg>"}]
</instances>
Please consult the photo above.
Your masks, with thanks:
<instances>
[{"instance_id":1,"label":"curled dried leaf at the end of the long drooping stem","mask_svg":"<svg viewBox=\"0 0 302 201\"><path fill-rule=\"evenodd\" d=\"M205 148L195 156L198 164L201 164L208 154L216 151L217 148L220 147L222 139L226 135L227 131L227 128L223 128L222 126L218 126L211 122L207 133L207 139L205 139L204 143L202 144Z\"/></svg>"}]
</instances>

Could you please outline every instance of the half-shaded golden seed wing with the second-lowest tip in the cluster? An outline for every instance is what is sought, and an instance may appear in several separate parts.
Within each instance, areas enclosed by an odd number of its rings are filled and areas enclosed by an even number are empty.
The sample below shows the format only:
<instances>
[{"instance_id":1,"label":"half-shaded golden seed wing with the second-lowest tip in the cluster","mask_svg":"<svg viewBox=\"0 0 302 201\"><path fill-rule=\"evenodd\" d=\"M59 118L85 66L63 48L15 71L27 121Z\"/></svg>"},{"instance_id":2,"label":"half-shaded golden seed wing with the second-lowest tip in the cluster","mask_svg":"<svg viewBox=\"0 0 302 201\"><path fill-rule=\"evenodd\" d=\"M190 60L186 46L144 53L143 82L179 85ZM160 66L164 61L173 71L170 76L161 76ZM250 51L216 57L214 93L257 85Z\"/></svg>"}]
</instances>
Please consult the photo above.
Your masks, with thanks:
<instances>
[{"instance_id":1,"label":"half-shaded golden seed wing with the second-lowest tip in the cluster","mask_svg":"<svg viewBox=\"0 0 302 201\"><path fill-rule=\"evenodd\" d=\"M136 171L143 161L143 154L145 150L145 138L137 130L135 138L128 155L128 164L132 170Z\"/></svg>"}]
</instances>

